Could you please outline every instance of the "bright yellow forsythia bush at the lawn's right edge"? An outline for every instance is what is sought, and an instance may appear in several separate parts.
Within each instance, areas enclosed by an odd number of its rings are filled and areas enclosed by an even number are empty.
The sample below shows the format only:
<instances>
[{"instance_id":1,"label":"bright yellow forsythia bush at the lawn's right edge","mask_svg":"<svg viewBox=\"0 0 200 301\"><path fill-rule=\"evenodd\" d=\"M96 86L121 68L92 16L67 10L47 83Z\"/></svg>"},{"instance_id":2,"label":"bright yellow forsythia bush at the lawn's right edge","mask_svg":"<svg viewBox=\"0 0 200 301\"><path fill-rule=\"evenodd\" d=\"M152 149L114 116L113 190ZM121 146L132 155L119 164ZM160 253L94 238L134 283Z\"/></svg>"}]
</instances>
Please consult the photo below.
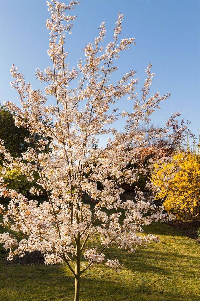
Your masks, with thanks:
<instances>
[{"instance_id":1,"label":"bright yellow forsythia bush at the lawn's right edge","mask_svg":"<svg viewBox=\"0 0 200 301\"><path fill-rule=\"evenodd\" d=\"M151 182L168 212L200 221L200 155L179 153L168 163L155 163Z\"/></svg>"}]
</instances>

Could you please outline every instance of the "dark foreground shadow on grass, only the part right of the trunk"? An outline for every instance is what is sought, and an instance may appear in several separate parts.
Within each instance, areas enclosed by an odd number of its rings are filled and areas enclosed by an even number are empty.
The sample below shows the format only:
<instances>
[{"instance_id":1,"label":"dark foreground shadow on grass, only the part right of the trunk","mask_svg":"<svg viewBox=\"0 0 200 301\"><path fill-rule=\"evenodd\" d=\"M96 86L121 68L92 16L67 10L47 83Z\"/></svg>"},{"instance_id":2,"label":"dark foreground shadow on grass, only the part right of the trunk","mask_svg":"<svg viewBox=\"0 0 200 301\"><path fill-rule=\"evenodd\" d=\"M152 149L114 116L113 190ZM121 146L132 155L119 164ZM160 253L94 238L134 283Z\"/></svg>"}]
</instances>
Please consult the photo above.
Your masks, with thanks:
<instances>
[{"instance_id":1,"label":"dark foreground shadow on grass, only the part right of the trunk","mask_svg":"<svg viewBox=\"0 0 200 301\"><path fill-rule=\"evenodd\" d=\"M197 292L185 293L181 292L178 288L170 290L170 287L166 291L161 286L155 286L152 282L138 281L136 278L132 278L132 283L126 283L124 281L112 280L97 280L96 278L90 278L90 281L82 279L81 285L84 290L82 291L82 301L178 301L178 300L193 300L198 301L199 295ZM93 287L93 288L92 288ZM87 293L85 293L87 292Z\"/></svg>"}]
</instances>

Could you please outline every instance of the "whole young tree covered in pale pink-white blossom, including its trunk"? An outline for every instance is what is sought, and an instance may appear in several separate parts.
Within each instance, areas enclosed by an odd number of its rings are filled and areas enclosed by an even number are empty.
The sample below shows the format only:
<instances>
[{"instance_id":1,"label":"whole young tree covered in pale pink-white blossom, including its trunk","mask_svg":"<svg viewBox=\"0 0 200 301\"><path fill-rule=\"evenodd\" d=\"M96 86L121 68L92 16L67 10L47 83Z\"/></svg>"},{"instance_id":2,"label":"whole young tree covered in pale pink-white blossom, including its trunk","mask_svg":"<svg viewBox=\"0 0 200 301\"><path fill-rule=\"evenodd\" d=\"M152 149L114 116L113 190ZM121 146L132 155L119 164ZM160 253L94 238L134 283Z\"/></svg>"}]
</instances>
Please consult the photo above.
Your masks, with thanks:
<instances>
[{"instance_id":1,"label":"whole young tree covered in pale pink-white blossom, including its trunk","mask_svg":"<svg viewBox=\"0 0 200 301\"><path fill-rule=\"evenodd\" d=\"M48 196L48 201L43 203L28 200L8 189L1 178L1 194L10 198L7 211L1 206L3 224L22 234L20 240L9 233L1 234L4 247L9 249L8 259L39 250L46 264L65 262L75 278L76 301L79 300L80 276L91 265L97 263L120 269L118 260L105 258L106 248L117 245L134 252L138 246L159 240L140 233L143 225L164 221L166 213L151 200L146 201L140 191L135 201L122 202L120 185L133 184L139 173L145 173L143 167L132 167L137 162L139 148L155 136L170 136L170 128L179 115L175 113L163 128L153 132L141 130L140 124L150 123L151 113L159 108L160 101L169 97L169 94L160 96L159 92L148 97L154 75L151 64L146 69L141 97L135 92L138 83L135 71L126 73L116 84L109 83L109 76L117 70L113 61L134 44L134 38L118 40L122 14L118 15L113 41L105 49L100 45L106 33L102 23L94 44L84 48L85 62L79 60L78 70L69 69L64 51L65 32L71 33L70 22L76 16L65 12L78 4L78 1L71 1L67 6L55 0L47 2L51 13L46 27L50 30L48 54L52 68L47 67L45 73L36 71L37 78L46 84L45 94L25 83L14 65L10 70L14 78L11 86L19 93L21 107L11 102L6 106L14 113L15 124L28 129L32 138L26 141L33 142L34 148L29 147L22 157L13 160L1 141L4 169L16 168L30 182L37 172L37 184L41 187L37 193L45 190ZM70 86L73 81L77 82L76 88L73 88L75 84ZM133 102L133 112L120 112L115 107L116 101L125 95ZM46 105L49 96L55 98L52 105ZM118 132L111 125L121 117L126 118L126 125ZM35 134L42 138L36 141ZM110 136L106 147L94 147L104 134ZM49 138L49 151L43 152ZM35 190L31 188L32 193ZM95 200L96 205L84 203L84 194ZM114 213L109 214L107 209ZM97 246L92 246L94 237L100 237Z\"/></svg>"}]
</instances>

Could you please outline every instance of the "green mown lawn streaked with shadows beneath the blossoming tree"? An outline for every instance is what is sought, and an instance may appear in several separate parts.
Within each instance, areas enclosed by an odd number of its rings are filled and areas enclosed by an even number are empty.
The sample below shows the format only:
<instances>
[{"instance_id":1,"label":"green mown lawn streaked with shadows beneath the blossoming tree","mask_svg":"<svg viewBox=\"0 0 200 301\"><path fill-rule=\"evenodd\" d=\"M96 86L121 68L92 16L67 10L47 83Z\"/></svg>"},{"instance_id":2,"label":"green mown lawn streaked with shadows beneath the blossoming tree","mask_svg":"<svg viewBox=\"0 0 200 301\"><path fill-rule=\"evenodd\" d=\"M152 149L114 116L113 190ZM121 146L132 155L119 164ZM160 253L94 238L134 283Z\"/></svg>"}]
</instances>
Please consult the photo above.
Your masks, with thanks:
<instances>
[{"instance_id":1,"label":"green mown lawn streaked with shadows beneath the blossoming tree","mask_svg":"<svg viewBox=\"0 0 200 301\"><path fill-rule=\"evenodd\" d=\"M200 244L166 224L152 224L147 233L160 236L160 244L118 257L121 273L101 267L82 275L82 301L199 301ZM19 265L1 260L1 301L73 300L74 279L65 265Z\"/></svg>"}]
</instances>

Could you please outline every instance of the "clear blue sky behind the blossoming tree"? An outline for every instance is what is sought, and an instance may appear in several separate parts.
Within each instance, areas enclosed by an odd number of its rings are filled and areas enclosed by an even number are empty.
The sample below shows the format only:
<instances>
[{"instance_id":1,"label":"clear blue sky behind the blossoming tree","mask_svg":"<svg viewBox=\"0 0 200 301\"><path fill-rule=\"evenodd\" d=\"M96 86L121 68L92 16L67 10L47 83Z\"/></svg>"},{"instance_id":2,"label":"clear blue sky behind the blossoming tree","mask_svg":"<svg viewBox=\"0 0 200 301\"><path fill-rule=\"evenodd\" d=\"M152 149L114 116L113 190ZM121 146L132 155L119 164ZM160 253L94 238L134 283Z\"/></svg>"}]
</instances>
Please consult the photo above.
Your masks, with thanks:
<instances>
[{"instance_id":1,"label":"clear blue sky behind the blossoming tree","mask_svg":"<svg viewBox=\"0 0 200 301\"><path fill-rule=\"evenodd\" d=\"M62 0L64 2L64 0ZM46 53L49 18L44 0L0 0L1 3L1 103L16 100L10 88L9 69L15 64L33 88L43 86L35 79L35 69L51 65ZM68 2L66 2L68 3ZM162 109L153 115L155 125L162 126L172 112L182 111L182 117L191 121L190 128L198 137L200 127L199 92L199 1L82 1L75 8L77 15L73 33L67 34L65 49L69 53L70 67L83 56L82 48L93 42L101 22L106 22L105 42L112 40L118 12L124 14L121 38L135 37L136 45L125 51L116 65L119 67L113 81L129 70L136 70L145 79L148 62L155 73L151 93L172 93L162 103ZM123 100L118 104L130 110L131 104ZM118 129L120 124L117 125Z\"/></svg>"}]
</instances>

